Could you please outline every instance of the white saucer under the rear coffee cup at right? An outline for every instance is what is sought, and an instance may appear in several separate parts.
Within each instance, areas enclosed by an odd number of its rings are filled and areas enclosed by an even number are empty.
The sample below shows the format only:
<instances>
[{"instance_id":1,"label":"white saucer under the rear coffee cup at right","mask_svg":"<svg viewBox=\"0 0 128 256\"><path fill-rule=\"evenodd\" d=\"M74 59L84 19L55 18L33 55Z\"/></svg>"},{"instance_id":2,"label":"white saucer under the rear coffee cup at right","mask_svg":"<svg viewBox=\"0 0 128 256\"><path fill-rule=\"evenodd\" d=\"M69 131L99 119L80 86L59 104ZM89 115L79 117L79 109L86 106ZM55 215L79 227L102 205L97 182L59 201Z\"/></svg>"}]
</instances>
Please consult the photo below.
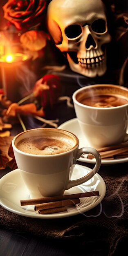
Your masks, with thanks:
<instances>
[{"instance_id":1,"label":"white saucer under the rear coffee cup at right","mask_svg":"<svg viewBox=\"0 0 128 256\"><path fill-rule=\"evenodd\" d=\"M86 141L85 135L81 131L77 118L73 118L69 121L66 121L65 123L58 126L58 129L63 129L69 132L73 132L79 139L79 148L83 148L85 146L88 147L88 142ZM83 155L79 159L79 161L94 164L95 159L94 158L88 159L87 156L88 155ZM119 164L124 162L128 162L128 157L113 159L113 160L104 160L104 159L101 160L101 164Z\"/></svg>"}]
</instances>

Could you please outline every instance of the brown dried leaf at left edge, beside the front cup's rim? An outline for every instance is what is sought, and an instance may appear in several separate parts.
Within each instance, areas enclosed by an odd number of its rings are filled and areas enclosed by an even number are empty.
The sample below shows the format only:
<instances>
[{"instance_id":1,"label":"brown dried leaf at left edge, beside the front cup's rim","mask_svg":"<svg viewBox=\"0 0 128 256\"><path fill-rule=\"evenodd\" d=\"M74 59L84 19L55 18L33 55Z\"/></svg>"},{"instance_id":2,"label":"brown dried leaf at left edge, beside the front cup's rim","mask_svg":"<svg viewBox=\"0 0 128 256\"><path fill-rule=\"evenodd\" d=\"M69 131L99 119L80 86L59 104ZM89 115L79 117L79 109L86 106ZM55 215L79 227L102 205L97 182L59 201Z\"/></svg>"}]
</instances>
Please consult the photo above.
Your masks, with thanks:
<instances>
[{"instance_id":1,"label":"brown dried leaf at left edge, beside the front cup's rim","mask_svg":"<svg viewBox=\"0 0 128 256\"><path fill-rule=\"evenodd\" d=\"M5 169L7 167L7 162L11 161L12 158L8 155L9 147L13 136L0 137L0 169Z\"/></svg>"}]
</instances>

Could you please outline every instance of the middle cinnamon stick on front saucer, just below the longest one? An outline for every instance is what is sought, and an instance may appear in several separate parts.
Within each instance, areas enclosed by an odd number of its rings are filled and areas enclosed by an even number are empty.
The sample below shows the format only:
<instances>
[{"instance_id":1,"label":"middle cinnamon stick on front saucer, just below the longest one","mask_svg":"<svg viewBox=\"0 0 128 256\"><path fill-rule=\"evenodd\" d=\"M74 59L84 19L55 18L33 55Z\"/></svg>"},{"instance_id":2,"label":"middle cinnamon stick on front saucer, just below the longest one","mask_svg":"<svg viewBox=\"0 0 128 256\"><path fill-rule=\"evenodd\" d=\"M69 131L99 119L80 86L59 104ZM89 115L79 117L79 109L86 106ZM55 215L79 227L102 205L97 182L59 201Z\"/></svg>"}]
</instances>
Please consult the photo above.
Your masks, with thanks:
<instances>
[{"instance_id":1,"label":"middle cinnamon stick on front saucer, just below the longest one","mask_svg":"<svg viewBox=\"0 0 128 256\"><path fill-rule=\"evenodd\" d=\"M79 204L80 200L79 198L73 199L73 200L63 200L63 201L55 201L55 202L48 202L43 204L36 204L34 207L35 211L40 211L43 209L50 209L50 208L56 208L56 207L62 207L62 206L69 206L74 204Z\"/></svg>"}]
</instances>

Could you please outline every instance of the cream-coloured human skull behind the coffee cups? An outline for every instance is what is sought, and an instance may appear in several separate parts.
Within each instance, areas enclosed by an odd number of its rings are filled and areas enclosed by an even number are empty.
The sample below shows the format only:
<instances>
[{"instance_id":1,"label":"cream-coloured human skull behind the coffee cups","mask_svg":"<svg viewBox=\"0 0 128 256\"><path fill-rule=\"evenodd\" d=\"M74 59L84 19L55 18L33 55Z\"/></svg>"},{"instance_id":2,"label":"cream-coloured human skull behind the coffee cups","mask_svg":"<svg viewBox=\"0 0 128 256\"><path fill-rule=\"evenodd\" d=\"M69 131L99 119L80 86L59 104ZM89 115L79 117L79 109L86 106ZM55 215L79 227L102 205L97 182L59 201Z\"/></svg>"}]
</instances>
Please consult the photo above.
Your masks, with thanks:
<instances>
[{"instance_id":1,"label":"cream-coloured human skull behind the coffee cups","mask_svg":"<svg viewBox=\"0 0 128 256\"><path fill-rule=\"evenodd\" d=\"M88 77L106 72L105 44L111 37L102 0L52 0L47 27L72 71Z\"/></svg>"}]
</instances>

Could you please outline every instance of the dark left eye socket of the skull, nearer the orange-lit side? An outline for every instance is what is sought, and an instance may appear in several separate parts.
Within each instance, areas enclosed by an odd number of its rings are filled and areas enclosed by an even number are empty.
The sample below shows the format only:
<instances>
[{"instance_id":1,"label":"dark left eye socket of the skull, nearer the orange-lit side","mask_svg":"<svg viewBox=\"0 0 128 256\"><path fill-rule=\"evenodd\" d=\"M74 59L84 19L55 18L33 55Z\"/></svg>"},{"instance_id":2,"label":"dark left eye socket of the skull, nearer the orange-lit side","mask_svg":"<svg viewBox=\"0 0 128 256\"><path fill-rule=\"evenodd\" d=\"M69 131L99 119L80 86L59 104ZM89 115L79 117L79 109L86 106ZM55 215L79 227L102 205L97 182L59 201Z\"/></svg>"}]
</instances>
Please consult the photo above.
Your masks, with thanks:
<instances>
[{"instance_id":1,"label":"dark left eye socket of the skull, nearer the orange-lit side","mask_svg":"<svg viewBox=\"0 0 128 256\"><path fill-rule=\"evenodd\" d=\"M82 27L80 25L73 24L65 28L65 35L68 39L77 38L81 36L81 33Z\"/></svg>"}]
</instances>

